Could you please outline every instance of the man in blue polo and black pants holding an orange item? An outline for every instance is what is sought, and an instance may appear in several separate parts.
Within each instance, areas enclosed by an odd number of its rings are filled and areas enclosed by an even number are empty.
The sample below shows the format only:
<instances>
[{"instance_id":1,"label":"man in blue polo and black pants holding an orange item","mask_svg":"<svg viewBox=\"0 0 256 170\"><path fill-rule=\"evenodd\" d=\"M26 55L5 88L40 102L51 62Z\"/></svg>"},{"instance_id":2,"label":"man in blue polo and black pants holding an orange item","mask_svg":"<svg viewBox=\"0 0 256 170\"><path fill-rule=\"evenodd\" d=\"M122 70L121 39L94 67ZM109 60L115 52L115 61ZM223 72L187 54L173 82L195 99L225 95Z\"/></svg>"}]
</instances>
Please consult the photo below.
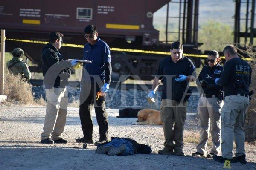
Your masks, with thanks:
<instances>
[{"instance_id":1,"label":"man in blue polo and black pants holding an orange item","mask_svg":"<svg viewBox=\"0 0 256 170\"><path fill-rule=\"evenodd\" d=\"M109 140L106 92L108 92L111 81L111 57L109 46L98 37L96 26L86 26L84 33L84 37L88 42L84 46L84 60L92 60L93 62L86 63L83 66L79 107L83 137L76 139L76 142L94 143L91 116L91 110L94 105L99 125L99 141L94 144L98 145ZM102 92L103 95L96 98L98 92Z\"/></svg>"}]
</instances>

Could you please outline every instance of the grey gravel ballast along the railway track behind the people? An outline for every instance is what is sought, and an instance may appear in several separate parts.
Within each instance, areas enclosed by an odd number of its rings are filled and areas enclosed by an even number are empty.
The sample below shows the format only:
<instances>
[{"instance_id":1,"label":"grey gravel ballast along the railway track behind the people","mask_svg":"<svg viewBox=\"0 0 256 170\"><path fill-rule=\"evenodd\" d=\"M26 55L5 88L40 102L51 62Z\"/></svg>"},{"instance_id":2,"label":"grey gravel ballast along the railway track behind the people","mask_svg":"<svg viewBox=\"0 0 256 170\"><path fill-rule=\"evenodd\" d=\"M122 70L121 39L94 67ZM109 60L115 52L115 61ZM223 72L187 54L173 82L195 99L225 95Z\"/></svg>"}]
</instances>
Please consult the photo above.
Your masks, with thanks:
<instances>
[{"instance_id":1,"label":"grey gravel ballast along the railway track behind the people","mask_svg":"<svg viewBox=\"0 0 256 170\"><path fill-rule=\"evenodd\" d=\"M68 86L67 90L69 103L79 103L79 88L73 88ZM41 98L41 96L45 98L45 91L42 86L33 86L32 92L34 94L35 99ZM151 108L158 110L161 104L161 92L157 92L157 95L155 97L156 102L154 104L149 104L148 101L146 100L148 91L136 89L120 90L110 88L107 94L108 95L106 107L108 109L124 109L126 107L132 107L143 109ZM198 98L198 94L190 96L187 107L188 112L197 113Z\"/></svg>"}]
</instances>

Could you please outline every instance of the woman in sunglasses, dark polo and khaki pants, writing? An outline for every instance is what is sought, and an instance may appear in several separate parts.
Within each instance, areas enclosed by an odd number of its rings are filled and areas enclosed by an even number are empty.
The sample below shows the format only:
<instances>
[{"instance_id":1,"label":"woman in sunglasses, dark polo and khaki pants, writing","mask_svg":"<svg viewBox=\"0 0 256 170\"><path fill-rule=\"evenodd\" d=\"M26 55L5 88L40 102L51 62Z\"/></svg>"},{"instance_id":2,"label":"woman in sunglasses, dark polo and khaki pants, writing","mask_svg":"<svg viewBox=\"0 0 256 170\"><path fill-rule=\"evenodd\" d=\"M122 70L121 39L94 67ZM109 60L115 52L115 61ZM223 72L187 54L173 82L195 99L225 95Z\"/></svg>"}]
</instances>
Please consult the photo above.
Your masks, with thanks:
<instances>
[{"instance_id":1,"label":"woman in sunglasses, dark polo and khaki pants, writing","mask_svg":"<svg viewBox=\"0 0 256 170\"><path fill-rule=\"evenodd\" d=\"M222 86L215 84L215 78L221 76L223 67L219 64L220 57L217 51L208 54L208 65L201 70L196 83L201 88L198 100L198 115L200 122L200 141L197 151L192 153L195 157L212 158L221 152L221 121L220 111L223 106ZM212 135L212 149L207 153L209 132Z\"/></svg>"}]
</instances>

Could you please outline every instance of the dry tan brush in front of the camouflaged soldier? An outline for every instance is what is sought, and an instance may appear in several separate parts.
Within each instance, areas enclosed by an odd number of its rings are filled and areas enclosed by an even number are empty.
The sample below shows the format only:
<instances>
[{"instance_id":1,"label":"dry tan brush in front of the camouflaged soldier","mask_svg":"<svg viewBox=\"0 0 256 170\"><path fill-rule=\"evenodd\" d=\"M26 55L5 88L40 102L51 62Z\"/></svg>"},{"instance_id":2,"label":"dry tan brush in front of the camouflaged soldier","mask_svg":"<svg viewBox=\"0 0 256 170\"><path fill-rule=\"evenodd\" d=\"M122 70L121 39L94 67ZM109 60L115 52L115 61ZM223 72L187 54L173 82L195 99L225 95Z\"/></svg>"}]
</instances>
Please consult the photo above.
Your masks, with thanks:
<instances>
[{"instance_id":1,"label":"dry tan brush in front of the camouflaged soldier","mask_svg":"<svg viewBox=\"0 0 256 170\"><path fill-rule=\"evenodd\" d=\"M5 72L4 95L20 104L35 104L31 85L8 71Z\"/></svg>"}]
</instances>

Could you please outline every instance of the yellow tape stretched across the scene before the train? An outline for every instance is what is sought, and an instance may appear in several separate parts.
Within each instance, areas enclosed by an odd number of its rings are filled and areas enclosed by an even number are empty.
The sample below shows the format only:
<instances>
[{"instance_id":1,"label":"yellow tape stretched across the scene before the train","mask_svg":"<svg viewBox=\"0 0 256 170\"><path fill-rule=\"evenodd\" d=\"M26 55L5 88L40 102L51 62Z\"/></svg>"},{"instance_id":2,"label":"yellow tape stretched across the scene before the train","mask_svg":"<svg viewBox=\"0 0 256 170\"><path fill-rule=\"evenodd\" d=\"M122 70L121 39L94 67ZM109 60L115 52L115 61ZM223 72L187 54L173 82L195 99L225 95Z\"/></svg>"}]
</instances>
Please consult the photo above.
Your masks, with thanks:
<instances>
[{"instance_id":1,"label":"yellow tape stretched across the scene before the train","mask_svg":"<svg viewBox=\"0 0 256 170\"><path fill-rule=\"evenodd\" d=\"M6 40L10 41L20 41L24 43L39 43L39 44L47 44L49 42L46 41L37 41L37 40L19 40L19 39L9 39L6 38ZM78 44L68 44L68 43L62 43L62 46L68 46L68 47L77 47L77 48L84 48L84 45L78 45ZM120 51L120 52L138 52L138 53L148 53L148 54L160 54L160 55L171 55L170 52L160 52L160 51L149 51L149 50L141 50L141 49L121 49L121 48L110 48L111 51ZM200 54L186 54L183 53L183 55L187 57L200 57L200 58L207 58L207 55L200 55ZM222 59L225 59L224 56L221 56ZM243 58L247 61L253 61L252 58Z\"/></svg>"}]
</instances>

